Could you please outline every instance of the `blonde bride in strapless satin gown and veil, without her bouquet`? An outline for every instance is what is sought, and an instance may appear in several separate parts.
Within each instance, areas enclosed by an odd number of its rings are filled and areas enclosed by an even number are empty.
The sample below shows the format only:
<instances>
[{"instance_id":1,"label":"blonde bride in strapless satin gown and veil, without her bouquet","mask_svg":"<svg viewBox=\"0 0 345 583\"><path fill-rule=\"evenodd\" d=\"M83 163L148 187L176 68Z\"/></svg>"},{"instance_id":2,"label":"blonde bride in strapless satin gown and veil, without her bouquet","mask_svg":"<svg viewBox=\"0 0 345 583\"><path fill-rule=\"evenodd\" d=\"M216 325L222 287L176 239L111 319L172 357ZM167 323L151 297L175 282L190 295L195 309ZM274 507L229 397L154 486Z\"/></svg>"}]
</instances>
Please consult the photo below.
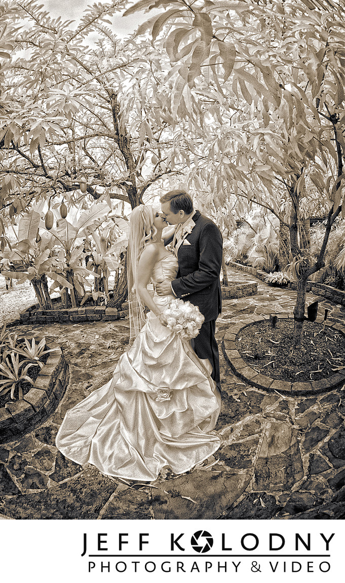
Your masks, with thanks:
<instances>
[{"instance_id":1,"label":"blonde bride in strapless satin gown and veil, without her bouquet","mask_svg":"<svg viewBox=\"0 0 345 583\"><path fill-rule=\"evenodd\" d=\"M177 259L162 239L167 223L151 206L130 216L128 286L131 338L112 379L67 411L56 447L108 476L148 481L162 468L179 474L214 454L220 394L212 366L166 326L175 297L151 296L147 286L175 279ZM145 319L144 305L149 308Z\"/></svg>"}]
</instances>

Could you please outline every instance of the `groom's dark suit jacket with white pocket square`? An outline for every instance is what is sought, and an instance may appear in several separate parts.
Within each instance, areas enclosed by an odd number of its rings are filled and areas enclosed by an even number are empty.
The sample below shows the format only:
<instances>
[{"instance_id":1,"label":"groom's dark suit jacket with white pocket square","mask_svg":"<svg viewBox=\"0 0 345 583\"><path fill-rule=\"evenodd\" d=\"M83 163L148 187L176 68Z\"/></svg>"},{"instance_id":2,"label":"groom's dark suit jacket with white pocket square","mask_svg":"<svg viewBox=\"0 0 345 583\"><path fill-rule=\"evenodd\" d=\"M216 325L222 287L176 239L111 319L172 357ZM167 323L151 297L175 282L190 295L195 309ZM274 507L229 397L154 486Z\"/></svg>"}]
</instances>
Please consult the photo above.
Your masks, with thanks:
<instances>
[{"instance_id":1,"label":"groom's dark suit jacket with white pocket square","mask_svg":"<svg viewBox=\"0 0 345 583\"><path fill-rule=\"evenodd\" d=\"M223 239L215 223L200 211L195 212L193 221L193 230L183 237L177 251L179 271L172 288L177 297L197 305L208 322L216 319L222 309L219 273Z\"/></svg>"}]
</instances>

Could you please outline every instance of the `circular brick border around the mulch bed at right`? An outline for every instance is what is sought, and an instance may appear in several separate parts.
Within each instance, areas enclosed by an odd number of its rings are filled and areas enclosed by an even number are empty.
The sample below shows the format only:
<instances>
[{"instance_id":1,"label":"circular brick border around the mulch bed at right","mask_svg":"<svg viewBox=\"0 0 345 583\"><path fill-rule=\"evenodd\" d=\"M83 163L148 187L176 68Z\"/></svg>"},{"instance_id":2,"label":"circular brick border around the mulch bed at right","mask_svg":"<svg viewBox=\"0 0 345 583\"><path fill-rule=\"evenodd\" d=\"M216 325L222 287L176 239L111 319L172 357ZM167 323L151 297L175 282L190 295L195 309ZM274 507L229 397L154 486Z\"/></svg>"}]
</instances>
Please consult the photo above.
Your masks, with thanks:
<instances>
[{"instance_id":1,"label":"circular brick border around the mulch bed at right","mask_svg":"<svg viewBox=\"0 0 345 583\"><path fill-rule=\"evenodd\" d=\"M278 319L287 319L293 318L291 314L276 314ZM259 389L264 389L264 391L268 392L280 392L285 395L315 395L320 394L328 391L332 391L333 389L343 385L345 383L345 368L342 371L339 371L336 374L330 375L330 377L323 378L319 381L310 381L310 382L287 382L287 381L280 381L275 378L268 377L267 375L263 375L258 373L254 368L249 366L246 361L241 358L241 354L237 350L236 347L236 336L239 334L243 328L247 328L254 322L264 322L268 320L269 316L252 316L247 318L243 322L239 322L239 324L234 324L227 329L223 341L222 341L222 352L224 357L229 363L230 367L243 381L246 381L248 384L253 385ZM316 322L322 322L323 318L318 317ZM335 329L339 331L343 336L345 336L345 326L342 324L338 324L334 322L333 324L329 324L328 328Z\"/></svg>"}]
</instances>

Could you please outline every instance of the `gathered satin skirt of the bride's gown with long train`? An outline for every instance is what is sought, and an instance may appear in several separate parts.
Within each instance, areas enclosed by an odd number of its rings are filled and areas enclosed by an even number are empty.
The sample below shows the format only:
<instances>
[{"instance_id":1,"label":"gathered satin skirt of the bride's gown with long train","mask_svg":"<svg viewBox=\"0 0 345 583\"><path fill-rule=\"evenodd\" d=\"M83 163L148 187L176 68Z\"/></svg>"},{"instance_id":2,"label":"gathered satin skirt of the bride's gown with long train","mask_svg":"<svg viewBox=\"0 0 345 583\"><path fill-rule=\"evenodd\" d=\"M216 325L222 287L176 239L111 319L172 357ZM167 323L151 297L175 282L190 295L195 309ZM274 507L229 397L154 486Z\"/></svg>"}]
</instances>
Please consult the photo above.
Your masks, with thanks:
<instances>
[{"instance_id":1,"label":"gathered satin skirt of the bride's gown with long train","mask_svg":"<svg viewBox=\"0 0 345 583\"><path fill-rule=\"evenodd\" d=\"M167 298L166 298L167 299ZM56 447L105 475L149 481L187 472L214 454L220 395L208 360L153 312L112 379L67 411Z\"/></svg>"}]
</instances>

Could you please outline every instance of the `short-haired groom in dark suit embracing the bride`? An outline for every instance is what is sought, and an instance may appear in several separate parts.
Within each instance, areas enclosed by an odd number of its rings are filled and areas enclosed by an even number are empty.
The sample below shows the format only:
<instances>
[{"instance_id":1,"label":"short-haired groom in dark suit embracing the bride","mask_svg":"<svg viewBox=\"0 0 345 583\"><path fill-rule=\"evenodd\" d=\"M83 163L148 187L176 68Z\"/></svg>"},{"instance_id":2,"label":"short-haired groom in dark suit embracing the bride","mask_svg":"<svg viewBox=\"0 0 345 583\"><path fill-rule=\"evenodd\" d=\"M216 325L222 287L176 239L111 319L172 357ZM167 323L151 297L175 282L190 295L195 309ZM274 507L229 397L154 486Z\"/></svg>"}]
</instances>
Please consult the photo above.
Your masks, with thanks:
<instances>
[{"instance_id":1,"label":"short-haired groom in dark suit embracing the bride","mask_svg":"<svg viewBox=\"0 0 345 583\"><path fill-rule=\"evenodd\" d=\"M157 284L157 293L186 298L197 305L205 317L200 332L192 341L200 359L212 364L212 378L220 391L219 352L215 339L216 319L222 308L219 273L222 267L223 240L218 227L193 209L190 195L172 190L161 197L162 214L177 229L173 251L179 262L177 278ZM166 241L166 243L170 243Z\"/></svg>"}]
</instances>

